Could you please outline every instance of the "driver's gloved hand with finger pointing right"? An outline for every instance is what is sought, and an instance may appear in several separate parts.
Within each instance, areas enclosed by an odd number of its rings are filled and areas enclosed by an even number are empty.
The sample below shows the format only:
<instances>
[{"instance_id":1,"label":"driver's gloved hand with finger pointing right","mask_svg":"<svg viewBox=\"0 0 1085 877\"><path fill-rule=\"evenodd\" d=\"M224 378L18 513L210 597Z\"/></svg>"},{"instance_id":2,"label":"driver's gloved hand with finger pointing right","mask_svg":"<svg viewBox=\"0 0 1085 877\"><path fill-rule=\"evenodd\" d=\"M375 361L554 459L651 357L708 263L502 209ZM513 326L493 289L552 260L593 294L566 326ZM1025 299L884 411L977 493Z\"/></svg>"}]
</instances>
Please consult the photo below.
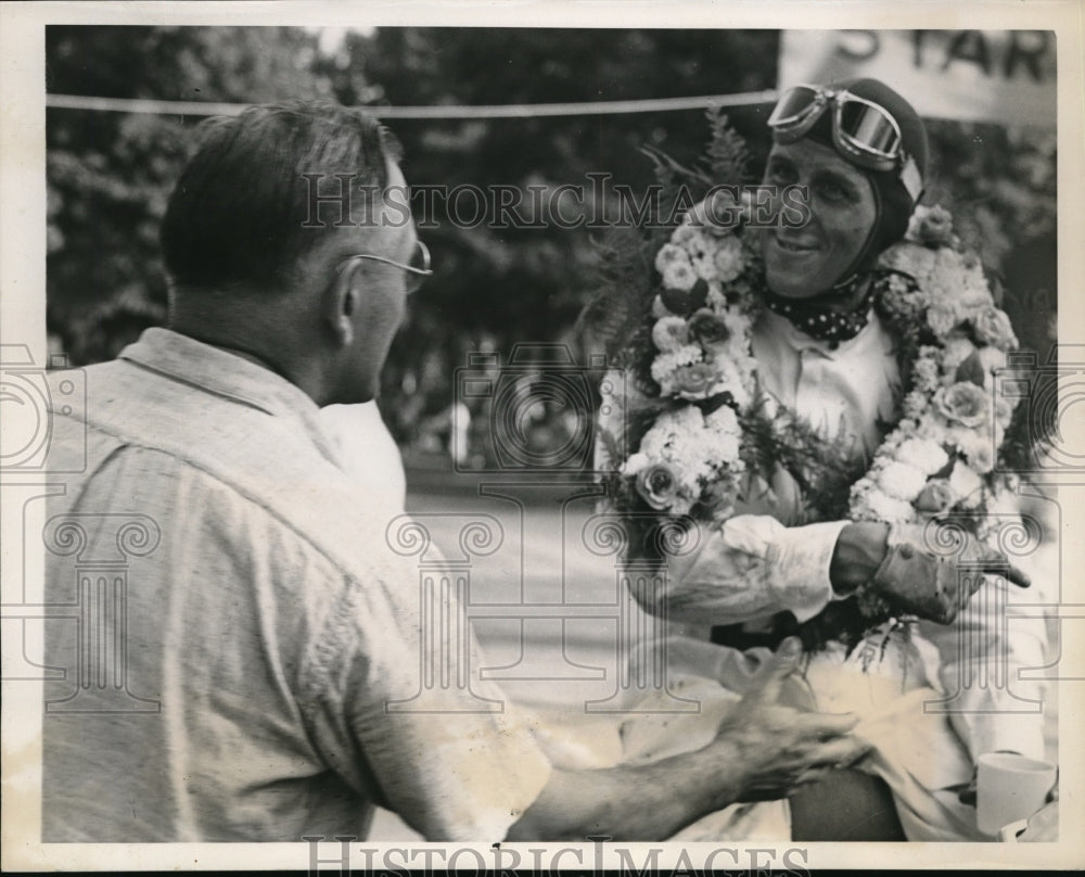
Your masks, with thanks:
<instances>
[{"instance_id":1,"label":"driver's gloved hand with finger pointing right","mask_svg":"<svg viewBox=\"0 0 1085 877\"><path fill-rule=\"evenodd\" d=\"M1003 575L1019 587L1029 587L1029 576L1005 555L974 536L954 531L953 542L931 545L928 526L852 524L845 528L833 555L830 577L833 587L863 582L905 612L949 624L980 588L984 574ZM873 565L873 559L881 558ZM835 572L835 574L834 574Z\"/></svg>"}]
</instances>

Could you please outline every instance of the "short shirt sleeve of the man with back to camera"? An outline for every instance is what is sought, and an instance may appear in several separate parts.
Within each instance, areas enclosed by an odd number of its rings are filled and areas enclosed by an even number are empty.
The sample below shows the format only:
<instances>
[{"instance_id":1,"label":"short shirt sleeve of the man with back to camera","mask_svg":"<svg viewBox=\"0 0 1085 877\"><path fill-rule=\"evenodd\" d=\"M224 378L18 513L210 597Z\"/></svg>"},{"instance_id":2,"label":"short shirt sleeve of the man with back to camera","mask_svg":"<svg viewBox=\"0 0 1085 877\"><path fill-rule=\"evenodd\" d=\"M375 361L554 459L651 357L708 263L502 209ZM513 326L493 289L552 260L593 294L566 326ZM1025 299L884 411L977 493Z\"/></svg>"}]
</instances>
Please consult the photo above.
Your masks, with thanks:
<instances>
[{"instance_id":1,"label":"short shirt sleeve of the man with back to camera","mask_svg":"<svg viewBox=\"0 0 1085 877\"><path fill-rule=\"evenodd\" d=\"M501 690L472 678L460 605L446 592L429 618L413 580L350 583L328 613L307 673L317 746L426 840L499 841L551 765Z\"/></svg>"}]
</instances>

